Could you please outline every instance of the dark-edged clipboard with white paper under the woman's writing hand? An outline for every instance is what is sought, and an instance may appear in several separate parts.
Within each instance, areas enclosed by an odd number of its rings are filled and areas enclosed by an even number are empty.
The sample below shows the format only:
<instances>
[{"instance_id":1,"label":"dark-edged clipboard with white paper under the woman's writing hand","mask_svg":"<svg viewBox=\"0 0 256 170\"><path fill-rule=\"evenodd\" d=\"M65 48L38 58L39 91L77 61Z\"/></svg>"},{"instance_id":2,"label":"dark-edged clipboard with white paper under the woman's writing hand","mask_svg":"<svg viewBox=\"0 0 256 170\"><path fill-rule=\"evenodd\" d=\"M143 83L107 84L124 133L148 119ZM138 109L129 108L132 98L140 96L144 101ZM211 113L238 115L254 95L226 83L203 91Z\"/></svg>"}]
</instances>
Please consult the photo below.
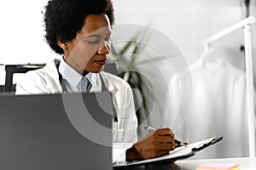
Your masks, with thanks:
<instances>
[{"instance_id":1,"label":"dark-edged clipboard with white paper under the woman's writing hand","mask_svg":"<svg viewBox=\"0 0 256 170\"><path fill-rule=\"evenodd\" d=\"M177 161L180 159L188 158L190 156L194 156L196 152L200 150L204 150L208 146L212 144L218 143L222 140L223 137L214 137L211 139L204 139L192 144L188 144L186 146L179 146L175 150L170 151L170 153L166 156L155 157L148 160L143 161L132 161L132 162L124 162L123 164L114 165L113 169L118 169L119 167L130 167L130 166L137 166L137 165L148 165L148 164L155 164L155 163L163 163L163 162L172 162Z\"/></svg>"}]
</instances>

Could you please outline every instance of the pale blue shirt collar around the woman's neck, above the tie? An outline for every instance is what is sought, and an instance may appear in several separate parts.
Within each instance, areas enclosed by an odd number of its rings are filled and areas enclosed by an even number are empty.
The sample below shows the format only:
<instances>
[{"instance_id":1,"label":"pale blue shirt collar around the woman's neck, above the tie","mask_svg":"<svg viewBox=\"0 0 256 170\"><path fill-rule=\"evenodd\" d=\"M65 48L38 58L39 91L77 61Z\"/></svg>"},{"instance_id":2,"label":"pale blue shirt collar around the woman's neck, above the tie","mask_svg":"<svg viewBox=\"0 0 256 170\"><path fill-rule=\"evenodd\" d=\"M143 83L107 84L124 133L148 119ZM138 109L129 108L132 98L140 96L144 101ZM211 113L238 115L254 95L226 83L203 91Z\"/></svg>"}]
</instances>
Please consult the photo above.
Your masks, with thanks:
<instances>
[{"instance_id":1,"label":"pale blue shirt collar around the woman's neck, above the tie","mask_svg":"<svg viewBox=\"0 0 256 170\"><path fill-rule=\"evenodd\" d=\"M61 73L62 78L66 79L70 85L72 85L73 87L79 86L79 82L81 81L83 76L78 71L75 71L70 65L68 65L67 62L63 58L61 58L59 71ZM93 87L96 86L96 74L95 73L89 72L84 77L86 77L90 81L90 83Z\"/></svg>"}]
</instances>

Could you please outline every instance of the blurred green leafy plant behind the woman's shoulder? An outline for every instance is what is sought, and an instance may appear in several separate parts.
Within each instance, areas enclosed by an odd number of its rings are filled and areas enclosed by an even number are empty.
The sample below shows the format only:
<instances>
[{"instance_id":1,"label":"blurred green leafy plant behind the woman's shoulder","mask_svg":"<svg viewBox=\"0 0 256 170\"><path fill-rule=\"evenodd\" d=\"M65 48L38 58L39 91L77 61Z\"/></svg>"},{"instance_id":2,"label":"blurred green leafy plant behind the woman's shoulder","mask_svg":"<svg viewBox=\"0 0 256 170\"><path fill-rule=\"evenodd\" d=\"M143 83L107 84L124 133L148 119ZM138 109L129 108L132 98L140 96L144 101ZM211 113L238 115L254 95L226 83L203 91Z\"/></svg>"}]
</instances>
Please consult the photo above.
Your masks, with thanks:
<instances>
[{"instance_id":1,"label":"blurred green leafy plant behind the woman's shoulder","mask_svg":"<svg viewBox=\"0 0 256 170\"><path fill-rule=\"evenodd\" d=\"M128 82L132 89L139 91L139 93L133 93L139 124L148 117L152 107L150 105L152 103L151 84L139 71L140 65L137 65L137 60L147 46L148 38L147 29L138 31L131 40L113 42L111 48L111 61L118 63L118 77Z\"/></svg>"}]
</instances>

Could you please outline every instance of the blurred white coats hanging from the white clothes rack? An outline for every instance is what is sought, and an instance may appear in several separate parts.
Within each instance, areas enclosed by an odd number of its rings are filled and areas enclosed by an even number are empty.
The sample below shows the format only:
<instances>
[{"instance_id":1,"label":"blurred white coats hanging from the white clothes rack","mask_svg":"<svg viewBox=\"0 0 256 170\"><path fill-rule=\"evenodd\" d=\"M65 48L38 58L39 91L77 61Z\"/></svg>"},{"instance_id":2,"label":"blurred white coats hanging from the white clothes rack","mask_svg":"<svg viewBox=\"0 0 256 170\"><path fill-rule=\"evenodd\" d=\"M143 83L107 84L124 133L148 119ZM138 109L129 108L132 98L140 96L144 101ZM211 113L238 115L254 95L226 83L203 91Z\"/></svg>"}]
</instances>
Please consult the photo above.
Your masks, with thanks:
<instances>
[{"instance_id":1,"label":"blurred white coats hanging from the white clothes rack","mask_svg":"<svg viewBox=\"0 0 256 170\"><path fill-rule=\"evenodd\" d=\"M224 137L193 158L248 156L244 71L222 60L199 59L173 76L168 88L164 126L177 139Z\"/></svg>"}]
</instances>

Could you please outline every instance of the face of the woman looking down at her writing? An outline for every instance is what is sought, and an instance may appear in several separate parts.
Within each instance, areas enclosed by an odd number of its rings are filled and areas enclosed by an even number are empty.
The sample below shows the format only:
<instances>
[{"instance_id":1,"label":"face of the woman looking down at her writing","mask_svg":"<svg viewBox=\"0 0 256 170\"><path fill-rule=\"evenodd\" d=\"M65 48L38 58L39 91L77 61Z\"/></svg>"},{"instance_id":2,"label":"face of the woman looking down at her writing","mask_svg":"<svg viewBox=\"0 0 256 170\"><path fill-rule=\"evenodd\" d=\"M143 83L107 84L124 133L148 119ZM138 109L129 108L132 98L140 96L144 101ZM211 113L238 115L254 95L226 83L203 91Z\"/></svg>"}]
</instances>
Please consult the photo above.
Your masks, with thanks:
<instances>
[{"instance_id":1,"label":"face of the woman looking down at her writing","mask_svg":"<svg viewBox=\"0 0 256 170\"><path fill-rule=\"evenodd\" d=\"M110 52L111 27L106 14L90 14L84 26L71 41L59 42L64 49L64 59L73 69L100 72L106 64Z\"/></svg>"}]
</instances>

